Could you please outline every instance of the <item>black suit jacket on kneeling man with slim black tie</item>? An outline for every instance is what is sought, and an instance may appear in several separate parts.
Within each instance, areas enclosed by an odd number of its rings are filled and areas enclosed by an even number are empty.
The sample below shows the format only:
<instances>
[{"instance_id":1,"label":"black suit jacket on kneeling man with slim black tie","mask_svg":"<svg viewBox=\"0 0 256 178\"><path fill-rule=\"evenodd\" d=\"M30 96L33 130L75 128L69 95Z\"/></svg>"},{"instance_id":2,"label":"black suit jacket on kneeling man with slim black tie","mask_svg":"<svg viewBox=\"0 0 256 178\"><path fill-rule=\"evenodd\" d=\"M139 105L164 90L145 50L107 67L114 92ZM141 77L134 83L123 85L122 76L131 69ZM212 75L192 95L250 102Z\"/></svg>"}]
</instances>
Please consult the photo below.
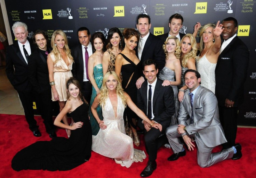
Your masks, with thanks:
<instances>
[{"instance_id":1,"label":"black suit jacket on kneeling man with slim black tie","mask_svg":"<svg viewBox=\"0 0 256 178\"><path fill-rule=\"evenodd\" d=\"M162 86L163 81L157 79L153 95L154 121L167 128L171 123L171 116L175 113L174 94L171 86ZM147 115L147 80L137 91L137 106Z\"/></svg>"}]
</instances>

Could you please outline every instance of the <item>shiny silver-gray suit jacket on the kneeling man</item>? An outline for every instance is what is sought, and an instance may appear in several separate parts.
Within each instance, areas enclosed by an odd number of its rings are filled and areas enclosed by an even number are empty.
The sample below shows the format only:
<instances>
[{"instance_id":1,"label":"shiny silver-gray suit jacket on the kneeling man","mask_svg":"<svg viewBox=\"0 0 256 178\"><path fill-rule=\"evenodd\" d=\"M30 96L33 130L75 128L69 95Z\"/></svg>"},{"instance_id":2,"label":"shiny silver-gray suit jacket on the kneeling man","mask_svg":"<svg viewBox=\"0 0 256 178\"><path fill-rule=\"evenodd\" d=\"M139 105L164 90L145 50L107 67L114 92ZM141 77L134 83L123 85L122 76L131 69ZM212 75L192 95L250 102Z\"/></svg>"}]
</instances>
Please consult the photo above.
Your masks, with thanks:
<instances>
[{"instance_id":1,"label":"shiny silver-gray suit jacket on the kneeling man","mask_svg":"<svg viewBox=\"0 0 256 178\"><path fill-rule=\"evenodd\" d=\"M199 86L193 101L193 124L190 123L191 114L190 96L189 90L187 90L179 105L178 123L186 126L189 135L198 132L208 147L215 147L227 142L219 122L218 101L213 92Z\"/></svg>"}]
</instances>

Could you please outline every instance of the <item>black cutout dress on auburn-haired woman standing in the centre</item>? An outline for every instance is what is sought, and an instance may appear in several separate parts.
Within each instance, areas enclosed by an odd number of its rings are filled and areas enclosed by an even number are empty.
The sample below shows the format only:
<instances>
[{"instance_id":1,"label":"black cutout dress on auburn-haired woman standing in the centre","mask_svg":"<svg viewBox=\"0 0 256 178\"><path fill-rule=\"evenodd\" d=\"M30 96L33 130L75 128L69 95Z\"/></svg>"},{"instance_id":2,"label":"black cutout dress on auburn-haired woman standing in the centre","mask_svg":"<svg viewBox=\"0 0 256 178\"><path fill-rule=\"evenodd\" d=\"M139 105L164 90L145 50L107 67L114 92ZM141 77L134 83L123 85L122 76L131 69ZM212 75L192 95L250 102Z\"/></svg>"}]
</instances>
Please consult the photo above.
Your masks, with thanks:
<instances>
[{"instance_id":1,"label":"black cutout dress on auburn-haired woman standing in the centre","mask_svg":"<svg viewBox=\"0 0 256 178\"><path fill-rule=\"evenodd\" d=\"M131 61L128 57L123 55L122 53L119 53L123 56L123 58L129 62L129 64L122 65L121 73L122 73L122 88L125 92L131 97L131 100L133 103L137 103L137 88L136 88L136 81L139 77L142 76L142 64L139 62L137 65ZM131 75L133 75L131 77ZM131 77L131 80L130 80ZM130 80L130 81L129 81ZM129 83L129 84L128 84ZM128 85L127 85L128 84ZM136 128L136 126L133 124L132 118L137 118L137 115L127 106L125 110L127 120L131 126Z\"/></svg>"}]
</instances>

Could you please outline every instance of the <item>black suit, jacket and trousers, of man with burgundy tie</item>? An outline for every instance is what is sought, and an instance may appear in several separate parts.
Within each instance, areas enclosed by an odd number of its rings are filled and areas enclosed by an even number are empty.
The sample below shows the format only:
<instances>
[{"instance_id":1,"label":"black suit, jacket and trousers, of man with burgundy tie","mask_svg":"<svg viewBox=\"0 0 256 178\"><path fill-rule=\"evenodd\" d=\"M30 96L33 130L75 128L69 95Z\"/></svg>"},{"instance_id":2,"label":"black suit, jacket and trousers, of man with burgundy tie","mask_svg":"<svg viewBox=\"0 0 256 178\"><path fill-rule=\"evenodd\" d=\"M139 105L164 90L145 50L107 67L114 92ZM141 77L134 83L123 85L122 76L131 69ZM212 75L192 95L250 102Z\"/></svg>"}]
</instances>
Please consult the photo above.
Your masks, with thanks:
<instances>
[{"instance_id":1,"label":"black suit, jacket and trousers, of man with burgundy tie","mask_svg":"<svg viewBox=\"0 0 256 178\"><path fill-rule=\"evenodd\" d=\"M74 63L72 66L73 77L79 81L80 86L82 88L82 94L85 97L85 99L87 100L87 102L90 103L92 85L90 82L83 82L83 72L84 72L83 63L85 62L85 59L83 59L81 44L72 48L71 54L74 59ZM86 67L88 67L88 66L86 66Z\"/></svg>"}]
</instances>

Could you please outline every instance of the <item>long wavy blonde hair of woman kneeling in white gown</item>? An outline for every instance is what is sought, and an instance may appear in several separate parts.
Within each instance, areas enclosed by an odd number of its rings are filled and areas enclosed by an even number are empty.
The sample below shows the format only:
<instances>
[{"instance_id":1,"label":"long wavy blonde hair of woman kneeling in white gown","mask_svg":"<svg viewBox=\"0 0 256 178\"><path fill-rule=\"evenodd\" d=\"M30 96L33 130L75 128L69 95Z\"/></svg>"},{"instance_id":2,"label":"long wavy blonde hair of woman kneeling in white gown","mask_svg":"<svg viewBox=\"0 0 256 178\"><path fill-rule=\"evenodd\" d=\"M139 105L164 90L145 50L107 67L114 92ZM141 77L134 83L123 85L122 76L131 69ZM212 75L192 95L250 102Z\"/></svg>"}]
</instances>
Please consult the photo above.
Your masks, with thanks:
<instances>
[{"instance_id":1,"label":"long wavy blonde hair of woman kneeling in white gown","mask_svg":"<svg viewBox=\"0 0 256 178\"><path fill-rule=\"evenodd\" d=\"M117 80L117 88L115 88L115 92L116 92L117 96L119 96L121 98L123 105L125 105L125 107L126 107L126 97L123 92L122 84L120 82L119 77L117 76L117 74L114 71L107 72L103 77L102 87L101 87L101 90L99 91L100 95L98 97L99 105L101 107L104 107L107 97L109 96L109 90L107 89L106 81L110 75L113 75L114 78Z\"/></svg>"}]
</instances>

